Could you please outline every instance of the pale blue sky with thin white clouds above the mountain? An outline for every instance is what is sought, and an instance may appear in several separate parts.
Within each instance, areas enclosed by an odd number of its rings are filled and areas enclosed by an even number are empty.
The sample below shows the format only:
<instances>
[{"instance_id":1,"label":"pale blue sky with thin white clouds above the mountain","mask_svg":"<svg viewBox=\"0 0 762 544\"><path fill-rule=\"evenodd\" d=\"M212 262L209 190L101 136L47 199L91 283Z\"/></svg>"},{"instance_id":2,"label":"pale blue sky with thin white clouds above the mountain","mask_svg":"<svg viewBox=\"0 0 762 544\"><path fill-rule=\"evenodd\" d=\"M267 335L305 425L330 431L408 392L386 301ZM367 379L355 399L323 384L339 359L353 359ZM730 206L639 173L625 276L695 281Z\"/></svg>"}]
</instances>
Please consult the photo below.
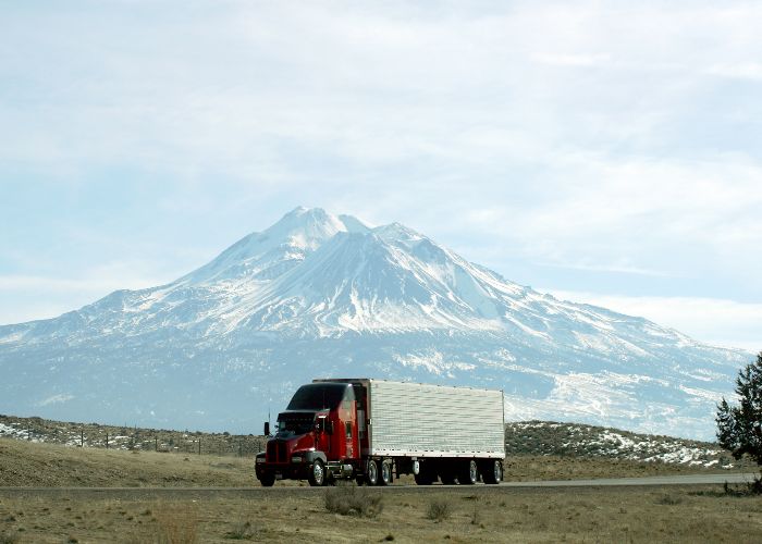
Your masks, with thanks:
<instances>
[{"instance_id":1,"label":"pale blue sky with thin white clouds above the mountain","mask_svg":"<svg viewBox=\"0 0 762 544\"><path fill-rule=\"evenodd\" d=\"M762 350L762 4L0 0L0 324L297 206Z\"/></svg>"}]
</instances>

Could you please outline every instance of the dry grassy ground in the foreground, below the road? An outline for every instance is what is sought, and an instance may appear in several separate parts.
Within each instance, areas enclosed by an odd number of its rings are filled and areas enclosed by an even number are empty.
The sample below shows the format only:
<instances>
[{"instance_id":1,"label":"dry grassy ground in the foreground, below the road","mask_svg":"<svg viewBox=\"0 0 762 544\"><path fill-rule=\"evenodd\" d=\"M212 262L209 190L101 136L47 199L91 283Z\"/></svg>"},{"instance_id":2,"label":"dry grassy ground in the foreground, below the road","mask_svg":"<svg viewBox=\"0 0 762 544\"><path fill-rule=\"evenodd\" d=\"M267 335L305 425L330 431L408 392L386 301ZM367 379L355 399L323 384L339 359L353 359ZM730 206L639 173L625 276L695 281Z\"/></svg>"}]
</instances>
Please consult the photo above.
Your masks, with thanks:
<instances>
[{"instance_id":1,"label":"dry grassy ground in the foreground, below the road","mask_svg":"<svg viewBox=\"0 0 762 544\"><path fill-rule=\"evenodd\" d=\"M136 490L137 492L137 490ZM762 498L717 487L369 490L371 518L325 509L324 490L219 492L187 498L131 492L0 492L0 542L760 542ZM445 515L432 519L431 512ZM448 512L448 514L447 514Z\"/></svg>"}]
</instances>

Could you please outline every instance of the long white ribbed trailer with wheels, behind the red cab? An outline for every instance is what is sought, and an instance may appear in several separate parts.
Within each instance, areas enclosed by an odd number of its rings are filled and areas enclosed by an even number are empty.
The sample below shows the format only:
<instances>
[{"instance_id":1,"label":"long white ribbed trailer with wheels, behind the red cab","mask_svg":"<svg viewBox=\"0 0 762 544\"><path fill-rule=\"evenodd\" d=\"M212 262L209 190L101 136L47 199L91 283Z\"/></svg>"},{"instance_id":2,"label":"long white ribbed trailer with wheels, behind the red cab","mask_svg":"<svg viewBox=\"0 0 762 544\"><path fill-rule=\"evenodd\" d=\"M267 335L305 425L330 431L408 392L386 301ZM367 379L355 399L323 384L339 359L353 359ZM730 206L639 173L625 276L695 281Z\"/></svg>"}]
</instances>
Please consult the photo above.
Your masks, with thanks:
<instances>
[{"instance_id":1,"label":"long white ribbed trailer with wheels, behind the red cab","mask_svg":"<svg viewBox=\"0 0 762 544\"><path fill-rule=\"evenodd\" d=\"M376 379L351 383L360 478L372 485L411 473L418 484L497 483L505 458L503 392Z\"/></svg>"}]
</instances>

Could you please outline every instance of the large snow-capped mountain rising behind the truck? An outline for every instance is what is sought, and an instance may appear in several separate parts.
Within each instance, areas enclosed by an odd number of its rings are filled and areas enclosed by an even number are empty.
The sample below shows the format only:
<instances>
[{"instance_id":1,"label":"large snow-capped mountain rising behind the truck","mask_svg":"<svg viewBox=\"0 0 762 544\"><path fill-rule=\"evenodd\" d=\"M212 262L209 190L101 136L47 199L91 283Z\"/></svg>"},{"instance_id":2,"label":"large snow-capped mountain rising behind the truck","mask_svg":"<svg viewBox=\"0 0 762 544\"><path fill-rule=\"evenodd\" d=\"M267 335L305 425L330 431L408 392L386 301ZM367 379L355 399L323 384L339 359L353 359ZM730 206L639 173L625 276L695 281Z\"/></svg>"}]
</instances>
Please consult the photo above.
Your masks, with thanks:
<instances>
[{"instance_id":1,"label":"large snow-capped mountain rising behind the truck","mask_svg":"<svg viewBox=\"0 0 762 544\"><path fill-rule=\"evenodd\" d=\"M502 388L507 419L712 438L750 360L403 225L297 208L168 285L0 326L0 411L259 432L298 384L362 375Z\"/></svg>"}]
</instances>

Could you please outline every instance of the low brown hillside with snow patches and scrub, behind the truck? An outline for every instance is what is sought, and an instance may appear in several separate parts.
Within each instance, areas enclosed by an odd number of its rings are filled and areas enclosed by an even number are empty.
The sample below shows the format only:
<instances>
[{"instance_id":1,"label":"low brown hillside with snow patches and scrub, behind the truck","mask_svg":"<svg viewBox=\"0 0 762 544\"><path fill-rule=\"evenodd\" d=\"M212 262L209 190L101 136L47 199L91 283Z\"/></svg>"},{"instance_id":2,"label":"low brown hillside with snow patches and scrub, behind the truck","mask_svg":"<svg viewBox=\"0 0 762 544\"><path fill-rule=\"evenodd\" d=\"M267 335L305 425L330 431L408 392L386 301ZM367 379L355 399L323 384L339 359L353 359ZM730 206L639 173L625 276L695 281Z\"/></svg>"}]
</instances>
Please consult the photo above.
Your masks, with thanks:
<instances>
[{"instance_id":1,"label":"low brown hillside with snow patches and scrub, behind the truck","mask_svg":"<svg viewBox=\"0 0 762 544\"><path fill-rule=\"evenodd\" d=\"M508 423L505 437L506 480L754 470L716 444L581 424ZM251 462L263 442L255 435L0 416L0 486L257 485Z\"/></svg>"}]
</instances>

